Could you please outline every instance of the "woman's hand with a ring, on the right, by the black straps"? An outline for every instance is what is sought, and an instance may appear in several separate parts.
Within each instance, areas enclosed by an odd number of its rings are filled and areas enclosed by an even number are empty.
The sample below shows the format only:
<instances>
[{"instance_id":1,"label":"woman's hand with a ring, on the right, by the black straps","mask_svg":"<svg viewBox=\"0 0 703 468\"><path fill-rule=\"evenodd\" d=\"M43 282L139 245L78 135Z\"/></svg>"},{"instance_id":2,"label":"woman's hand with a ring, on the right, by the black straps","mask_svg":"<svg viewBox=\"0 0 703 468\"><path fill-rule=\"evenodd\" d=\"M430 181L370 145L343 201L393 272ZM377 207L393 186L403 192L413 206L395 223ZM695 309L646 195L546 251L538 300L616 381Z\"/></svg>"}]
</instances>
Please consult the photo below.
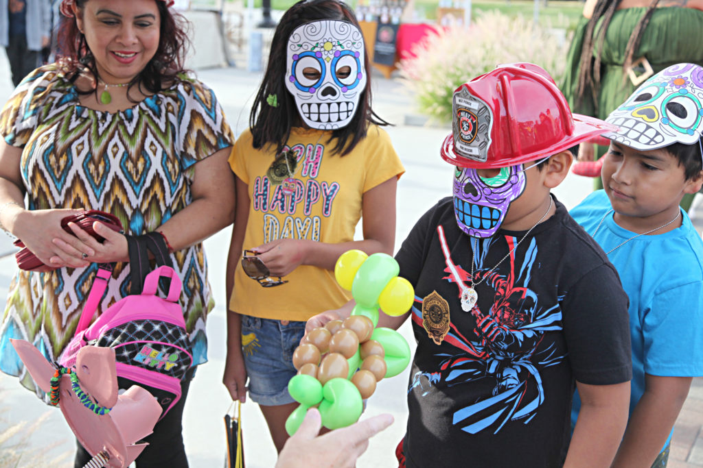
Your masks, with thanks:
<instances>
[{"instance_id":1,"label":"woman's hand with a ring, on the right, by the black straps","mask_svg":"<svg viewBox=\"0 0 703 468\"><path fill-rule=\"evenodd\" d=\"M103 243L100 243L74 222L68 223L68 227L75 234L75 237L68 239L68 241L60 238L53 239L54 245L59 250L56 256L51 258L52 265L56 265L58 262L68 264L75 260L96 263L129 262L127 238L123 234L113 231L100 221L95 221L93 222L93 230L105 238Z\"/></svg>"}]
</instances>

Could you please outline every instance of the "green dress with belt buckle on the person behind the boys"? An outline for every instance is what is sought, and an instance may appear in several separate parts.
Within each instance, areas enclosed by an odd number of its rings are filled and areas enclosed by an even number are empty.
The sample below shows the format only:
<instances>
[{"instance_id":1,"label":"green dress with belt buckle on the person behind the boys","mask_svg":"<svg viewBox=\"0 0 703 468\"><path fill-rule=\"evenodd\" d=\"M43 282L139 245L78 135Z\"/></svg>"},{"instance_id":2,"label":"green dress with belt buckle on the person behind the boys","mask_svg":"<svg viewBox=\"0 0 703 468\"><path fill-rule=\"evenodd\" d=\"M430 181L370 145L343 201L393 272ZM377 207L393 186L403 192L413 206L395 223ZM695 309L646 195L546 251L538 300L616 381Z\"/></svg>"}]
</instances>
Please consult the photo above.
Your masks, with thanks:
<instances>
[{"instance_id":1,"label":"green dress with belt buckle on the person behind the boys","mask_svg":"<svg viewBox=\"0 0 703 468\"><path fill-rule=\"evenodd\" d=\"M629 78L623 82L622 65L626 57L626 47L630 35L647 11L645 7L625 8L616 11L610 20L602 46L600 66L600 93L598 93L598 112L590 89L586 89L583 98L576 105L576 85L579 79L579 62L583 36L586 34L586 18L581 18L576 27L574 39L567 55L567 66L562 92L566 96L573 112L605 119L610 112L621 105L635 91L636 86ZM593 33L598 37L599 24ZM595 58L598 51L593 50ZM643 32L635 60L646 57L654 73L681 62L696 63L703 66L703 11L694 8L666 7L657 8ZM635 69L639 75L643 69ZM598 157L605 153L605 147L598 147ZM600 184L600 178L596 179ZM601 188L602 185L600 185ZM688 210L692 195L687 195L681 206Z\"/></svg>"}]
</instances>

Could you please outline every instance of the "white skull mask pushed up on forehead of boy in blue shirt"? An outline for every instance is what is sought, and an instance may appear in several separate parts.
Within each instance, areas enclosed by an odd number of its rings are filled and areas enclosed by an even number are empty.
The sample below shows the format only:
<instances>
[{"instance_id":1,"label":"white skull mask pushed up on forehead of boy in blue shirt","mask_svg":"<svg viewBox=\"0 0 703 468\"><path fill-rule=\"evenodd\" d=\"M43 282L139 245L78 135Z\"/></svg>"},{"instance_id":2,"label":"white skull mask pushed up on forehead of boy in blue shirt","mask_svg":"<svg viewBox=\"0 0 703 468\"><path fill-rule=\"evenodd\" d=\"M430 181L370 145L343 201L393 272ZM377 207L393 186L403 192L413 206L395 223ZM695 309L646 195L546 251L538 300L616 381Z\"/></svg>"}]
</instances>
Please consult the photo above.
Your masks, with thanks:
<instances>
[{"instance_id":1,"label":"white skull mask pushed up on forehead of boy in blue shirt","mask_svg":"<svg viewBox=\"0 0 703 468\"><path fill-rule=\"evenodd\" d=\"M640 151L698 142L703 131L703 68L680 63L663 69L611 112L617 132L605 138Z\"/></svg>"}]
</instances>

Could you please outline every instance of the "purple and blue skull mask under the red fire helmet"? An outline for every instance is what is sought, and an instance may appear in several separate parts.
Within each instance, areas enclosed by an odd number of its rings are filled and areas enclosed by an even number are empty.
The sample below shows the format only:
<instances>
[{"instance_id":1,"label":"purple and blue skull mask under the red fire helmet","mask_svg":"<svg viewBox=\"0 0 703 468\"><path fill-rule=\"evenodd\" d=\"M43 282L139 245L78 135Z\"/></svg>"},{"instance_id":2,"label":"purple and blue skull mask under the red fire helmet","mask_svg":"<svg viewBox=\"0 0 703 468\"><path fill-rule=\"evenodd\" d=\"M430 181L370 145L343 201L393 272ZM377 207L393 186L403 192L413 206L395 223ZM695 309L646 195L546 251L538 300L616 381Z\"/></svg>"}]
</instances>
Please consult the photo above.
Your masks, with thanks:
<instances>
[{"instance_id":1,"label":"purple and blue skull mask under the red fire helmet","mask_svg":"<svg viewBox=\"0 0 703 468\"><path fill-rule=\"evenodd\" d=\"M522 164L501 168L498 175L482 178L476 169L454 170L454 214L460 229L474 237L490 237L508 213L508 207L525 188Z\"/></svg>"}]
</instances>

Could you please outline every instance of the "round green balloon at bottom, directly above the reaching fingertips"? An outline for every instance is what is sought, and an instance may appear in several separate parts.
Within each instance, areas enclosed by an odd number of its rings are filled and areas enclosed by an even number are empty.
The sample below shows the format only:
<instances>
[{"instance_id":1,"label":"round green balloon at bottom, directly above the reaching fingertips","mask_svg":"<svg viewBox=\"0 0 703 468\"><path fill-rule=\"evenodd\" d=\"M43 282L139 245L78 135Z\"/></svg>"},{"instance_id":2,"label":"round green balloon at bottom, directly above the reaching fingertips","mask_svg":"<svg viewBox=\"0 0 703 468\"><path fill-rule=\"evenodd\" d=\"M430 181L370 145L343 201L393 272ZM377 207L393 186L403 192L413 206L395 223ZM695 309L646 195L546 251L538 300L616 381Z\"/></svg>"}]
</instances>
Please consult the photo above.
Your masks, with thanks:
<instances>
[{"instance_id":1,"label":"round green balloon at bottom, directly above the reaching fingertips","mask_svg":"<svg viewBox=\"0 0 703 468\"><path fill-rule=\"evenodd\" d=\"M327 382L322 392L325 398L319 409L324 427L339 429L359 420L363 403L359 390L352 382L337 377Z\"/></svg>"}]
</instances>

